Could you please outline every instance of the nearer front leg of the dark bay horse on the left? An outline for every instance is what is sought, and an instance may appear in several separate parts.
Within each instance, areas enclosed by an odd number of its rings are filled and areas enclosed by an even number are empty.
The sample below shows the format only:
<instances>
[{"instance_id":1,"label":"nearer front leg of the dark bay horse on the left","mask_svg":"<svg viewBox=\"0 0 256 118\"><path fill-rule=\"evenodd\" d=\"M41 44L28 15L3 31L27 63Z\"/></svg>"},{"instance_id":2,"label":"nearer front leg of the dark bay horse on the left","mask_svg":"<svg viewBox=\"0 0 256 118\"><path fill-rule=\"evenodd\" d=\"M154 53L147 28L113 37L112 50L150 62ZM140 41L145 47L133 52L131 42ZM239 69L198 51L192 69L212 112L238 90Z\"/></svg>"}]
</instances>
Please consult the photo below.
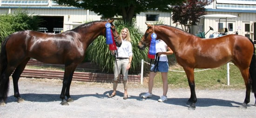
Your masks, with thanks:
<instances>
[{"instance_id":1,"label":"nearer front leg of the dark bay horse on the left","mask_svg":"<svg viewBox=\"0 0 256 118\"><path fill-rule=\"evenodd\" d=\"M77 64L74 64L74 63L65 65L64 78L63 78L63 82L62 82L63 86L62 86L61 96L60 96L60 98L62 99L61 105L68 106L67 100L65 99L65 93L67 91L68 92L67 94L69 95L69 86L72 81L72 78L71 78L71 80L69 80L69 78L71 75L73 75L76 66L77 66ZM67 88L68 88L68 90L67 90ZM69 97L70 97L70 95L69 95Z\"/></svg>"}]
</instances>

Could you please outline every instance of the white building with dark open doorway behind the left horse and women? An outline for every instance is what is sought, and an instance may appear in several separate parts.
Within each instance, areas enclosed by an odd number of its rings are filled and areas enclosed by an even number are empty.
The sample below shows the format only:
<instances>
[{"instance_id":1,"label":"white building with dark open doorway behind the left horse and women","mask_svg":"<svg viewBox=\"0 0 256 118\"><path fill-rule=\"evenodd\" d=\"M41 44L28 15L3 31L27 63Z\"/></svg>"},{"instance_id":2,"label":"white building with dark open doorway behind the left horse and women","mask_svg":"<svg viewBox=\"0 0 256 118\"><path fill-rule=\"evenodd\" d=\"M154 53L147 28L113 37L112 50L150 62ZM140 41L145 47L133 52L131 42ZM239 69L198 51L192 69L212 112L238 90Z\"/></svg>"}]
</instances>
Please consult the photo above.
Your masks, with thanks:
<instances>
[{"instance_id":1,"label":"white building with dark open doorway behind the left horse and women","mask_svg":"<svg viewBox=\"0 0 256 118\"><path fill-rule=\"evenodd\" d=\"M58 33L67 31L86 22L101 20L101 16L82 8L60 6L52 0L0 0L0 14L13 13L17 8L26 9L33 15L42 16L47 22L40 27L40 31ZM162 21L170 25L171 13L149 11L136 15L137 26L145 31L148 23Z\"/></svg>"}]
</instances>

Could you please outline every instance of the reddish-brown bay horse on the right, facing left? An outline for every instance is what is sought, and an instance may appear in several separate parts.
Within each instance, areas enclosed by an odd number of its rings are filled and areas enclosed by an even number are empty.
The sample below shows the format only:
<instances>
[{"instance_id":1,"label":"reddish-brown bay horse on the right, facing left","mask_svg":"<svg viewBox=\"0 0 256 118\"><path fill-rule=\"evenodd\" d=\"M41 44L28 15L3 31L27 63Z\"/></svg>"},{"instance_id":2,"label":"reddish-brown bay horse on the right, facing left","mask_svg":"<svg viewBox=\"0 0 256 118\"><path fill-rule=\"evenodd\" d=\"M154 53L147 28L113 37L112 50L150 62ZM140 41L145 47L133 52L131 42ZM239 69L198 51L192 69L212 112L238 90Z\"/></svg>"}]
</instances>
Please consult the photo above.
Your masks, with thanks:
<instances>
[{"instance_id":1,"label":"reddish-brown bay horse on the right, facing left","mask_svg":"<svg viewBox=\"0 0 256 118\"><path fill-rule=\"evenodd\" d=\"M197 101L194 68L217 68L227 62L233 62L241 71L246 86L246 96L240 108L247 108L251 87L252 92L256 92L256 56L252 40L240 35L202 39L172 26L148 25L138 45L141 50L149 45L153 31L157 39L162 39L174 51L177 62L186 72L191 92L187 102L190 105L189 110L195 110ZM256 93L254 96L256 98Z\"/></svg>"}]
</instances>

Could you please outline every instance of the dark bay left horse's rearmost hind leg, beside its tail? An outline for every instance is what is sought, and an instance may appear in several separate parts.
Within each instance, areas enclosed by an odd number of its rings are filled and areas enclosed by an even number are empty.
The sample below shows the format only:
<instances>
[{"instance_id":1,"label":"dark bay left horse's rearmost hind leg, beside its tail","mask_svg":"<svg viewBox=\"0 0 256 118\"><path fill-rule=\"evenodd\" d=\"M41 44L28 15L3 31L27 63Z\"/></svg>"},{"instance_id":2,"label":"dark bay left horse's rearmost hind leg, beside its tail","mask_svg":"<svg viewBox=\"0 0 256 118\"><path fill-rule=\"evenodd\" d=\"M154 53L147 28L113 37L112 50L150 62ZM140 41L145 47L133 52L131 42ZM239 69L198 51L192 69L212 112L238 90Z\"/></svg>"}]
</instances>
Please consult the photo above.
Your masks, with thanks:
<instances>
[{"instance_id":1,"label":"dark bay left horse's rearmost hind leg, beside its tail","mask_svg":"<svg viewBox=\"0 0 256 118\"><path fill-rule=\"evenodd\" d=\"M6 68L3 68L3 73L0 76L0 106L5 106L5 101L9 90L9 77L13 73L15 67L7 65Z\"/></svg>"}]
</instances>

